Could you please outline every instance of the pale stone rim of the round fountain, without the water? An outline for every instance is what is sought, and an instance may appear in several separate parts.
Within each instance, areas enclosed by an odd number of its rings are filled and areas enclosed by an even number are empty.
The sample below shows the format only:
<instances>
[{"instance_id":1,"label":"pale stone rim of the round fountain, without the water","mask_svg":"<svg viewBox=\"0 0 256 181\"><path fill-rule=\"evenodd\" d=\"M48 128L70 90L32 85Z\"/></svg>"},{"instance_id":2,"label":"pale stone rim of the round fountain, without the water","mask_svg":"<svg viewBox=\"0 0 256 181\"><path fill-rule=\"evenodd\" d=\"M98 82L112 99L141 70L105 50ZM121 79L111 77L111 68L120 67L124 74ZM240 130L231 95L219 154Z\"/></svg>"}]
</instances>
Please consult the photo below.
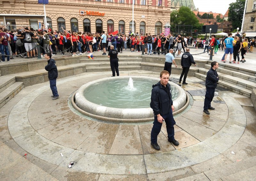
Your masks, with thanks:
<instances>
[{"instance_id":1,"label":"pale stone rim of the round fountain, without the water","mask_svg":"<svg viewBox=\"0 0 256 181\"><path fill-rule=\"evenodd\" d=\"M92 118L100 119L103 121L110 122L148 122L154 120L153 110L148 107L144 108L115 108L108 107L104 105L95 104L84 97L86 91L93 85L98 83L106 83L106 81L111 80L124 80L124 82L128 82L129 78L132 79L143 79L153 81L152 84L156 84L160 81L159 78L146 77L146 76L119 76L119 77L107 77L99 80L95 80L89 83L84 84L82 87L78 89L76 94L73 96L72 105L79 112L90 116ZM143 83L143 82L142 82ZM174 112L173 115L178 114L186 109L189 104L189 98L186 92L177 84L169 82L171 87L174 88L175 91L178 91L177 98L173 100ZM152 89L152 85L150 88L150 92ZM97 94L95 92L94 94ZM151 96L151 93L150 93ZM150 97L149 97L150 99ZM150 103L150 102L149 102Z\"/></svg>"}]
</instances>

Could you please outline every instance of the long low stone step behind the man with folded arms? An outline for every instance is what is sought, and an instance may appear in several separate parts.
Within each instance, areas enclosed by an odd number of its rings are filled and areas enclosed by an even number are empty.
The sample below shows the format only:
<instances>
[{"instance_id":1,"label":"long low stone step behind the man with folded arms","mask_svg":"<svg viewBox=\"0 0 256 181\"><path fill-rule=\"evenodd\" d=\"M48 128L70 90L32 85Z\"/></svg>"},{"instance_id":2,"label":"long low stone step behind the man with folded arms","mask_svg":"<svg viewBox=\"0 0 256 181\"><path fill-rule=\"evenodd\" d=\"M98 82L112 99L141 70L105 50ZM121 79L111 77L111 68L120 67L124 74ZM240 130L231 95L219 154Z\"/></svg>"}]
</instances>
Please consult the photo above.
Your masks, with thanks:
<instances>
[{"instance_id":1,"label":"long low stone step behind the man with folded arms","mask_svg":"<svg viewBox=\"0 0 256 181\"><path fill-rule=\"evenodd\" d=\"M63 66L57 65L57 69L58 78L63 78L86 72L86 65L85 63L76 63ZM15 76L16 81L23 82L25 87L49 81L48 72L45 69L20 72L16 74L10 74L7 76Z\"/></svg>"}]
</instances>

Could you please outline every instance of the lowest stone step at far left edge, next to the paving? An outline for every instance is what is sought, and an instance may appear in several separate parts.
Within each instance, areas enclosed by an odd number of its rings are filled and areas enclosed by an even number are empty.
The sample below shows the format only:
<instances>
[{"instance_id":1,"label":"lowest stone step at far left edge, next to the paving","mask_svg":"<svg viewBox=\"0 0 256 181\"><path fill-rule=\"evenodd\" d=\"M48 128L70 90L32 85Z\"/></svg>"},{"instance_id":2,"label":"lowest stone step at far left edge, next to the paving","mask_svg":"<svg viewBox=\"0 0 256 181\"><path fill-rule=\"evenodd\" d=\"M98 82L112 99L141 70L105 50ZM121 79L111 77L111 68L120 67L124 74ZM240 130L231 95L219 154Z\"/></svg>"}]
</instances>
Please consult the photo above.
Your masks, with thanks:
<instances>
[{"instance_id":1,"label":"lowest stone step at far left edge, next to the paving","mask_svg":"<svg viewBox=\"0 0 256 181\"><path fill-rule=\"evenodd\" d=\"M15 82L6 88L0 94L0 108L5 105L11 98L13 98L21 89L24 88L23 82Z\"/></svg>"}]
</instances>

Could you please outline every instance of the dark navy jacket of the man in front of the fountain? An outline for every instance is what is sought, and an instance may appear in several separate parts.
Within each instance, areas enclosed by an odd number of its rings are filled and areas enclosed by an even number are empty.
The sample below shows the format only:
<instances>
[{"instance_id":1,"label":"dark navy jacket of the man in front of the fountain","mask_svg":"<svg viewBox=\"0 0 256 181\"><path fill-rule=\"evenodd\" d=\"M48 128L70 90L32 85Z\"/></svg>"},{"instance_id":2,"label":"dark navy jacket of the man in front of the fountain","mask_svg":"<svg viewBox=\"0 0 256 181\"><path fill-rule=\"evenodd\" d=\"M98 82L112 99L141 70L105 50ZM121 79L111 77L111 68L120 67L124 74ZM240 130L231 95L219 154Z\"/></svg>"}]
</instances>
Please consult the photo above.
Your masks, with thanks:
<instances>
[{"instance_id":1,"label":"dark navy jacket of the man in front of the fountain","mask_svg":"<svg viewBox=\"0 0 256 181\"><path fill-rule=\"evenodd\" d=\"M160 83L160 81L152 85L153 89L151 91L151 102L150 107L153 109L154 114L164 115L171 111L172 108L172 94L171 94L171 86L167 83L167 91Z\"/></svg>"}]
</instances>

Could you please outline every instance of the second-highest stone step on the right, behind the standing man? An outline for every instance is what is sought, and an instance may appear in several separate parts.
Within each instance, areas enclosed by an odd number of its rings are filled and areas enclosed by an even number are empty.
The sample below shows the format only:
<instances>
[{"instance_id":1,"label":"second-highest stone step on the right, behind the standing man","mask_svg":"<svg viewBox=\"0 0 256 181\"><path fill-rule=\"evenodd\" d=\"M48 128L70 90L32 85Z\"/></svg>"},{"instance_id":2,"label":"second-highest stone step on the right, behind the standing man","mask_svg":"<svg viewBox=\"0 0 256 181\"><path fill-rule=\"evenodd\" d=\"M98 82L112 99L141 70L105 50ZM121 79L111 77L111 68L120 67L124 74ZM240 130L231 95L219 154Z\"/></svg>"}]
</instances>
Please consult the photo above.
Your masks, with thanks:
<instances>
[{"instance_id":1,"label":"second-highest stone step on the right, behind the standing man","mask_svg":"<svg viewBox=\"0 0 256 181\"><path fill-rule=\"evenodd\" d=\"M211 68L211 65L210 64L205 64L204 68L209 70ZM219 67L219 69L217 69L217 71L228 74L228 75L231 75L231 76L240 77L242 79L249 80L249 81L252 81L252 82L256 82L256 76L250 75L250 74L248 74L248 72L247 73L242 73L242 72L239 72L237 70L225 69L223 67Z\"/></svg>"}]
</instances>

